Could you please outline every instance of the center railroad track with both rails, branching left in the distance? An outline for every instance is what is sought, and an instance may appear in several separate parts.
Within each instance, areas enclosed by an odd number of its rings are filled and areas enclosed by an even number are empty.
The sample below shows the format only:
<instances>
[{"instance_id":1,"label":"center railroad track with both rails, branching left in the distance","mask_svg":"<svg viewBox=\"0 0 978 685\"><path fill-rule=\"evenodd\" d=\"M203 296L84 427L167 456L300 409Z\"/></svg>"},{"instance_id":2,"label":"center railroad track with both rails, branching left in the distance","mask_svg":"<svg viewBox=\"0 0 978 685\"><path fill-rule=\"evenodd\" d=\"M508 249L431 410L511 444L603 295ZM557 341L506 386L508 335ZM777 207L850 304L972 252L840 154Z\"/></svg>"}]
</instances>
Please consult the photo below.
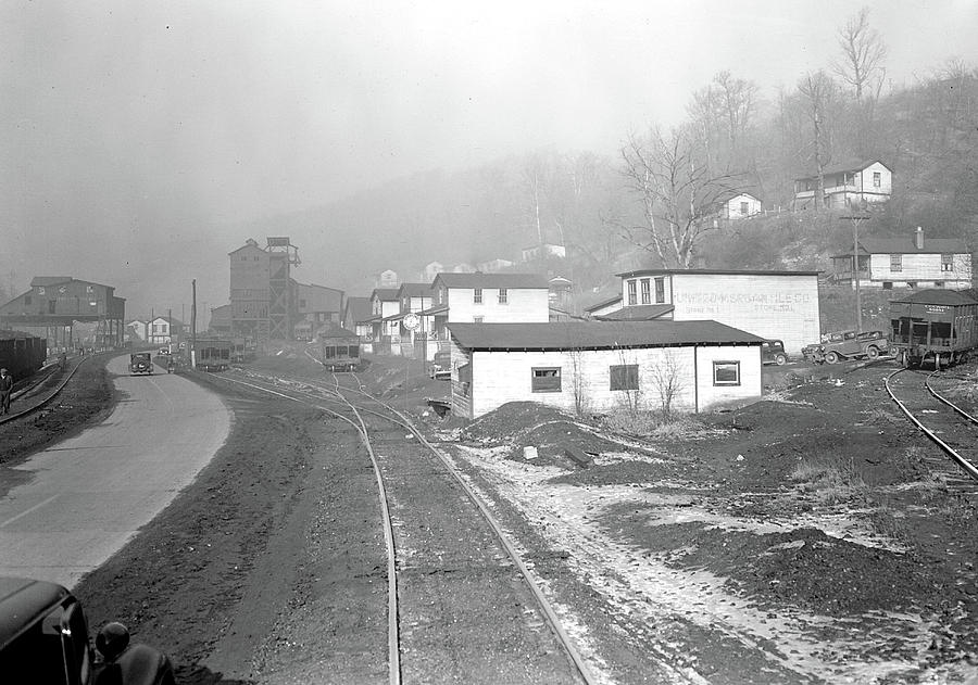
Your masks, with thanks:
<instances>
[{"instance_id":1,"label":"center railroad track with both rails, branching left in the distance","mask_svg":"<svg viewBox=\"0 0 978 685\"><path fill-rule=\"evenodd\" d=\"M343 377L350 382L215 378L315 407L360 433L387 542L389 682L597 682L459 469L408 416Z\"/></svg>"}]
</instances>

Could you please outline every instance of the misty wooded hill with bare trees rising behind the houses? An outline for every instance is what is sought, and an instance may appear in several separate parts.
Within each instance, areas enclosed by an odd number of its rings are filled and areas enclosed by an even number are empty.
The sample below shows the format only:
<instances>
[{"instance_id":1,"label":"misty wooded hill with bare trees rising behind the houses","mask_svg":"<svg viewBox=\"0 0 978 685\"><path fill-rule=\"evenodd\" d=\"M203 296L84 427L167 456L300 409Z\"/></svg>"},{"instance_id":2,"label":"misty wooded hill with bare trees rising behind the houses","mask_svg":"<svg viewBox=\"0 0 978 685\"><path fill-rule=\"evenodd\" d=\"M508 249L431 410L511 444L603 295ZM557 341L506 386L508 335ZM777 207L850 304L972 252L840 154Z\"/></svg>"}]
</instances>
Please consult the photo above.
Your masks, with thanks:
<instances>
[{"instance_id":1,"label":"misty wooded hill with bare trees rising behind the houses","mask_svg":"<svg viewBox=\"0 0 978 685\"><path fill-rule=\"evenodd\" d=\"M827 268L849 226L826 212L789 213L792 179L816 174L819 165L880 160L894 172L893 196L865 224L866 234L924 226L931 237L964 238L978 248L973 66L950 62L899 88L867 81L858 98L829 71L803 75L797 88L767 100L749 79L722 73L691 96L688 112L674 129L650 123L647 134L623 131L617 151L537 150L480 168L431 170L250 230L290 236L305 262L325 265L325 274L309 280L355 294L386 268L410 280L429 262L517 259L522 248L541 240L567 246L562 269L579 291L616 269L663 261ZM644 187L637 172L647 174ZM669 172L681 182L662 182ZM715 230L714 201L738 188L781 213ZM688 254L676 249L684 240Z\"/></svg>"}]
</instances>

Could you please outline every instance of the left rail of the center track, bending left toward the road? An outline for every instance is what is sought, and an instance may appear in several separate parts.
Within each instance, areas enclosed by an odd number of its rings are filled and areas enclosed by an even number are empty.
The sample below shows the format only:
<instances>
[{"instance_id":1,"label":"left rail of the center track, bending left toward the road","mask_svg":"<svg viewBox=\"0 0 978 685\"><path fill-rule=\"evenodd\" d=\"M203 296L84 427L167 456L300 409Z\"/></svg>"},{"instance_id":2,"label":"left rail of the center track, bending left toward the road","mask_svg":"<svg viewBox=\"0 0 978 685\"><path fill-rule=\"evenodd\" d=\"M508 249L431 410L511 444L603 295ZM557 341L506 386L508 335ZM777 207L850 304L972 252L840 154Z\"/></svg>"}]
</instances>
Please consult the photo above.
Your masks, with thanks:
<instances>
[{"instance_id":1,"label":"left rail of the center track, bending left toward the road","mask_svg":"<svg viewBox=\"0 0 978 685\"><path fill-rule=\"evenodd\" d=\"M220 378L221 380L227 381L229 383L236 383L238 385L244 385L247 388L251 388L253 390L259 390L264 393L268 393L271 395L276 395L278 397L283 397L285 399L290 399L292 402L298 402L300 404L305 404L313 406L321 411L325 411L330 414L338 419L346 421L350 426L353 427L354 430L360 434L361 442L366 447L367 454L371 457L371 464L374 468L374 478L377 481L377 492L380 500L380 512L384 519L384 542L387 546L387 648L388 648L388 659L390 663L389 668L389 683L390 685L400 685L401 683L401 637L400 637L400 626L398 624L398 575L397 575L397 550L394 549L394 540L393 540L393 527L390 521L390 506L387 499L387 489L384 485L384 477L380 473L380 465L377 461L377 457L374 454L374 447L371 444L369 435L367 434L366 424L363 421L363 417L360 416L356 407L352 404L348 404L348 406L353 410L356 416L356 421L353 421L347 416L343 416L339 411L334 411L328 407L323 407L316 404L313 404L308 398L292 397L284 392L279 392L277 390L273 390L271 388L263 388L262 385L255 383L249 383L247 381L237 380L234 378L228 378L226 376L215 376L214 378ZM297 393L301 393L301 391L292 391ZM309 393L305 393L309 394Z\"/></svg>"}]
</instances>

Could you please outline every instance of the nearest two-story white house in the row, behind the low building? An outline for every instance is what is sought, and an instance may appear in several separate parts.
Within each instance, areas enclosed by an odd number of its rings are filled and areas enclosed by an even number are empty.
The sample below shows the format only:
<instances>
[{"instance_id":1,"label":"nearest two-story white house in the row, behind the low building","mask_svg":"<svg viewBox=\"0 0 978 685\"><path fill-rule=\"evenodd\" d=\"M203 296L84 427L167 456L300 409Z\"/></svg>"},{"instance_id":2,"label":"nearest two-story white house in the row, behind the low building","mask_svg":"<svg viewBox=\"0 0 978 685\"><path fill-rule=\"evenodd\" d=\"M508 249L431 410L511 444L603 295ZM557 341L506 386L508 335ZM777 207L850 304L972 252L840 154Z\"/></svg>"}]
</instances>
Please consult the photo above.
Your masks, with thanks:
<instances>
[{"instance_id":1,"label":"nearest two-story white house in the row, behind the low building","mask_svg":"<svg viewBox=\"0 0 978 685\"><path fill-rule=\"evenodd\" d=\"M431 283L434 339L444 347L451 322L516 324L550 320L550 284L539 274L439 274Z\"/></svg>"}]
</instances>

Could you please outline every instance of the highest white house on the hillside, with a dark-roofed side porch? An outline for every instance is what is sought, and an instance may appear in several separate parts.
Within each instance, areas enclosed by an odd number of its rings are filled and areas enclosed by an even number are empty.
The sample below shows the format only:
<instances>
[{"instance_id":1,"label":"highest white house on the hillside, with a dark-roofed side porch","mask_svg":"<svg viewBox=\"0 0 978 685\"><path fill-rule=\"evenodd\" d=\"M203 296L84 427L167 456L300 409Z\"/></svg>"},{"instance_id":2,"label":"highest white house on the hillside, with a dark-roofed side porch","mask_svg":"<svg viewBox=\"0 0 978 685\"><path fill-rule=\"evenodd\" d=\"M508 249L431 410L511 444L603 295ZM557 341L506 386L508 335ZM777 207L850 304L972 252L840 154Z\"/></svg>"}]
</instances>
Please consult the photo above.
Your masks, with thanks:
<instances>
[{"instance_id":1,"label":"highest white house on the hillside, with a dark-roofed side porch","mask_svg":"<svg viewBox=\"0 0 978 685\"><path fill-rule=\"evenodd\" d=\"M889 200L893 190L893 172L879 160L829 166L823 176L830 210L865 210ZM817 175L794 179L794 208L814 207L817 192Z\"/></svg>"}]
</instances>

